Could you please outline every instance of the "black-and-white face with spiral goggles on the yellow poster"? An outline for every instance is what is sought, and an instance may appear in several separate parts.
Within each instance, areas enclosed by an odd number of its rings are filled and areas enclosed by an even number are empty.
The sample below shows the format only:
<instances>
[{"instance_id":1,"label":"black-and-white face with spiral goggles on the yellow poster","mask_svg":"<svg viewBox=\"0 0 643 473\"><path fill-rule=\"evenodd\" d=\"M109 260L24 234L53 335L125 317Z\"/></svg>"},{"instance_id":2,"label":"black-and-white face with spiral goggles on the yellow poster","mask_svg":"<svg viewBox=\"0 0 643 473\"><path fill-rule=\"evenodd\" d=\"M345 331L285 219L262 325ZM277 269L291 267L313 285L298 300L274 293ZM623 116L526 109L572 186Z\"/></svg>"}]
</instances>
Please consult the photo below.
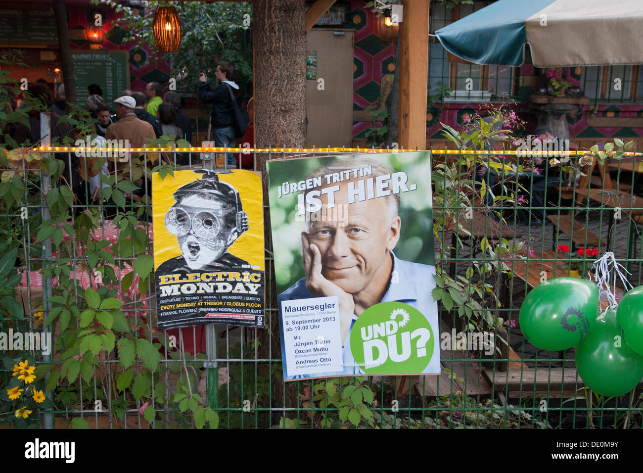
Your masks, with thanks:
<instances>
[{"instance_id":1,"label":"black-and-white face with spiral goggles on the yellow poster","mask_svg":"<svg viewBox=\"0 0 643 473\"><path fill-rule=\"evenodd\" d=\"M176 209L174 219L183 228L176 236L190 269L197 270L213 263L236 239L236 234L231 235L225 224L226 214L233 209L221 201L194 195L181 199L172 209Z\"/></svg>"}]
</instances>

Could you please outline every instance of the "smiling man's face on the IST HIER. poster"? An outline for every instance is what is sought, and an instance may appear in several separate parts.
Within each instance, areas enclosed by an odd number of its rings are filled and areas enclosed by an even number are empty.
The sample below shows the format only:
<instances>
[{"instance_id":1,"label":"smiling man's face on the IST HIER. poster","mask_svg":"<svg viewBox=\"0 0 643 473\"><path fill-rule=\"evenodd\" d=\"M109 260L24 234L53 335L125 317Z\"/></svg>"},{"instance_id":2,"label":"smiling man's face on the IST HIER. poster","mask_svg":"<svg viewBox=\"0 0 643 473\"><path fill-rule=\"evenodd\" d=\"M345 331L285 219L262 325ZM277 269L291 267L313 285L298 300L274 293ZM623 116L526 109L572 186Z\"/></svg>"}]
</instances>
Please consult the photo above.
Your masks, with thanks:
<instances>
[{"instance_id":1,"label":"smiling man's face on the IST HIER. poster","mask_svg":"<svg viewBox=\"0 0 643 473\"><path fill-rule=\"evenodd\" d=\"M345 292L357 293L374 281L388 279L386 259L399 239L401 221L389 207L387 198L348 203L346 182L335 192L335 205L345 213L332 221L308 221L308 240L321 252L321 274ZM322 214L337 216L327 210L327 196L322 195ZM310 214L308 214L310 217Z\"/></svg>"}]
</instances>

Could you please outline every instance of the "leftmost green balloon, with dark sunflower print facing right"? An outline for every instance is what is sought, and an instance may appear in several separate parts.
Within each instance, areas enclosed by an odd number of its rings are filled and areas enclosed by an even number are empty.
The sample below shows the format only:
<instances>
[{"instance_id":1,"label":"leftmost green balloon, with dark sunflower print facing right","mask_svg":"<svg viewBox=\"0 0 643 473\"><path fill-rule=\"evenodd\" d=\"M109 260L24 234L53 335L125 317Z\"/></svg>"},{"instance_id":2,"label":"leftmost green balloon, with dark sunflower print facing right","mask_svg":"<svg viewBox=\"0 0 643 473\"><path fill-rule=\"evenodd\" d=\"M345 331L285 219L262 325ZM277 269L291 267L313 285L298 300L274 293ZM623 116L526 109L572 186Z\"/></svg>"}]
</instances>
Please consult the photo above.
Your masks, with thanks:
<instances>
[{"instance_id":1,"label":"leftmost green balloon, with dark sunflower print facing right","mask_svg":"<svg viewBox=\"0 0 643 473\"><path fill-rule=\"evenodd\" d=\"M576 346L592 330L599 288L577 277L538 284L520 306L520 329L533 346L550 351Z\"/></svg>"}]
</instances>

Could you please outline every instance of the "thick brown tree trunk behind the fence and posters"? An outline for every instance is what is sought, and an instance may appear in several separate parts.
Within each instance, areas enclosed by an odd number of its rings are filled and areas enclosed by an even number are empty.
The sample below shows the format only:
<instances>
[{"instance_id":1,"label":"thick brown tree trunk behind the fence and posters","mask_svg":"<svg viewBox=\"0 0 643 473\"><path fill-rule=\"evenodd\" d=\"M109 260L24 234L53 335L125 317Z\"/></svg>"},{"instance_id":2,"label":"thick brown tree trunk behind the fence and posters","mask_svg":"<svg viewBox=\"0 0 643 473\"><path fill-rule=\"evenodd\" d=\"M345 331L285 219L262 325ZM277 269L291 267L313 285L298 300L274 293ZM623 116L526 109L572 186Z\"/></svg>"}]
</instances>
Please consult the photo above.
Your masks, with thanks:
<instances>
[{"instance_id":1,"label":"thick brown tree trunk behind the fence and posters","mask_svg":"<svg viewBox=\"0 0 643 473\"><path fill-rule=\"evenodd\" d=\"M305 0L253 0L253 79L255 96L255 147L303 147L306 140L306 15ZM264 205L268 204L266 160L257 154ZM279 154L278 157L283 157ZM279 320L276 311L275 268L270 257L272 241L270 216L264 211L266 274L268 275L266 329L260 332L260 358L280 358ZM260 367L260 376L269 376L269 366ZM296 407L295 384L273 382L275 407ZM284 392L285 386L285 392ZM277 413L272 422L283 414Z\"/></svg>"}]
</instances>

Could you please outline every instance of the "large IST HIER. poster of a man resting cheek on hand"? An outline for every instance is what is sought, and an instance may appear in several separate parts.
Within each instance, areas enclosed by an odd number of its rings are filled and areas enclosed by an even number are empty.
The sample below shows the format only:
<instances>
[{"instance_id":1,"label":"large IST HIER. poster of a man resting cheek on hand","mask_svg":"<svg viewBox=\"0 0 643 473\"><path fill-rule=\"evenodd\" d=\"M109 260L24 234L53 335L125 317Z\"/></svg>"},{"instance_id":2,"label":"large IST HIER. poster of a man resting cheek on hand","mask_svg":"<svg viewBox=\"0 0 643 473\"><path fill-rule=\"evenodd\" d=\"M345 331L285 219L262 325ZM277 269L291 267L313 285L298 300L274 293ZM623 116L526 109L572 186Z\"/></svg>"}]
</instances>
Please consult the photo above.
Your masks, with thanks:
<instances>
[{"instance_id":1,"label":"large IST HIER. poster of a man resting cheek on hand","mask_svg":"<svg viewBox=\"0 0 643 473\"><path fill-rule=\"evenodd\" d=\"M439 373L428 153L267 174L284 379Z\"/></svg>"}]
</instances>

